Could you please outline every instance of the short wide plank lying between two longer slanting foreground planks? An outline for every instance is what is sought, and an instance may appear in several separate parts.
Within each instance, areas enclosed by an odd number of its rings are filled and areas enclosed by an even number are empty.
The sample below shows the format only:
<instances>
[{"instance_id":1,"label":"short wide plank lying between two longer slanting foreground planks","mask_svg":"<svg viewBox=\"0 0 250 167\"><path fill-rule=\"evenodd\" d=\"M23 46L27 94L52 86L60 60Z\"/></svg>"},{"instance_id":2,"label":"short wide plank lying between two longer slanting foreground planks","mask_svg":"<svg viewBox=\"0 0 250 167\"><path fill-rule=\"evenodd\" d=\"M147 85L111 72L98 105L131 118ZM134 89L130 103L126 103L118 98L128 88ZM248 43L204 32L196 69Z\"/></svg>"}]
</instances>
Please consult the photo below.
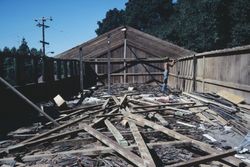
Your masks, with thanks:
<instances>
[{"instance_id":1,"label":"short wide plank lying between two longer slanting foreground planks","mask_svg":"<svg viewBox=\"0 0 250 167\"><path fill-rule=\"evenodd\" d=\"M121 145L121 146L128 146L128 142L124 139L122 134L119 132L119 130L109 121L105 120L104 121L105 125L109 129L109 131L113 134L115 137L116 141Z\"/></svg>"}]
</instances>

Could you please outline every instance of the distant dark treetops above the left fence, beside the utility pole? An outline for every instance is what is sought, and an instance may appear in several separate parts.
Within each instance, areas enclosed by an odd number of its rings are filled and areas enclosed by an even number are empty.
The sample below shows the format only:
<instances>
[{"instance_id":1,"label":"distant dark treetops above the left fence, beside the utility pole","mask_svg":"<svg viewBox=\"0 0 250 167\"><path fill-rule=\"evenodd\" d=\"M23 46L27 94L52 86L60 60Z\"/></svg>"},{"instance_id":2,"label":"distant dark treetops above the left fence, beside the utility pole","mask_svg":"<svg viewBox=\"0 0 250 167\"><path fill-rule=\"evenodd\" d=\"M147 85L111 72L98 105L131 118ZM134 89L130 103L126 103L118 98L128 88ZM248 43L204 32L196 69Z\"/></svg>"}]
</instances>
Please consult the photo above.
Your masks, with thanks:
<instances>
[{"instance_id":1,"label":"distant dark treetops above the left fence, beside the utility pole","mask_svg":"<svg viewBox=\"0 0 250 167\"><path fill-rule=\"evenodd\" d=\"M3 50L0 49L0 56L18 56L18 55L41 56L41 54L42 54L42 50L37 50L36 48L30 49L25 38L22 39L21 44L18 48L12 47L10 49L8 47L4 47Z\"/></svg>"}]
</instances>

